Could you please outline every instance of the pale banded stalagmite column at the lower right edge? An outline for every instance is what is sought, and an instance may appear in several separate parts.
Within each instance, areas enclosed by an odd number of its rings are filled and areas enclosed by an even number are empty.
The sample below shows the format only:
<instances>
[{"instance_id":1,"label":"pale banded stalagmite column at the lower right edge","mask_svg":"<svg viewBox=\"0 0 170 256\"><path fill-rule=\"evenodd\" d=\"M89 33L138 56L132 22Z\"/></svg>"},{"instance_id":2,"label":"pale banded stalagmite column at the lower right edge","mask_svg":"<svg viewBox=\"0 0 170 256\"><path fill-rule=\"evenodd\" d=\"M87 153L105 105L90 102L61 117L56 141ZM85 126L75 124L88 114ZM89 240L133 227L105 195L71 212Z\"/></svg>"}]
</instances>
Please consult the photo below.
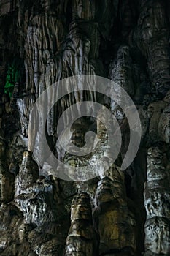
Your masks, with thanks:
<instances>
[{"instance_id":1,"label":"pale banded stalagmite column at the lower right edge","mask_svg":"<svg viewBox=\"0 0 170 256\"><path fill-rule=\"evenodd\" d=\"M147 182L144 187L144 206L147 211L145 223L145 249L169 255L169 165L166 151L159 147L148 150ZM145 255L148 255L146 252Z\"/></svg>"}]
</instances>

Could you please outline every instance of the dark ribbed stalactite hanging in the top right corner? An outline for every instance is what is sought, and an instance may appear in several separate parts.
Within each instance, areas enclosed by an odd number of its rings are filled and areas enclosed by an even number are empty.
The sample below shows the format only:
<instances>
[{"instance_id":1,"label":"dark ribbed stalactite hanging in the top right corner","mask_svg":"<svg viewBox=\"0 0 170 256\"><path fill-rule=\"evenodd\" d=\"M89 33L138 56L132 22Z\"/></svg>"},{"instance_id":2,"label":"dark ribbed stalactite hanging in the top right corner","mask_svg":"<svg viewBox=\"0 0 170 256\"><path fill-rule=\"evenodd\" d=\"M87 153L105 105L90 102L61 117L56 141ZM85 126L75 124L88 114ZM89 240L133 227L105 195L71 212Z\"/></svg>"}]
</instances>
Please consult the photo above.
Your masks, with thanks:
<instances>
[{"instance_id":1,"label":"dark ribbed stalactite hanging in the top right corner","mask_svg":"<svg viewBox=\"0 0 170 256\"><path fill-rule=\"evenodd\" d=\"M163 1L147 1L134 31L136 45L148 61L152 91L165 95L169 90L169 30Z\"/></svg>"}]
</instances>

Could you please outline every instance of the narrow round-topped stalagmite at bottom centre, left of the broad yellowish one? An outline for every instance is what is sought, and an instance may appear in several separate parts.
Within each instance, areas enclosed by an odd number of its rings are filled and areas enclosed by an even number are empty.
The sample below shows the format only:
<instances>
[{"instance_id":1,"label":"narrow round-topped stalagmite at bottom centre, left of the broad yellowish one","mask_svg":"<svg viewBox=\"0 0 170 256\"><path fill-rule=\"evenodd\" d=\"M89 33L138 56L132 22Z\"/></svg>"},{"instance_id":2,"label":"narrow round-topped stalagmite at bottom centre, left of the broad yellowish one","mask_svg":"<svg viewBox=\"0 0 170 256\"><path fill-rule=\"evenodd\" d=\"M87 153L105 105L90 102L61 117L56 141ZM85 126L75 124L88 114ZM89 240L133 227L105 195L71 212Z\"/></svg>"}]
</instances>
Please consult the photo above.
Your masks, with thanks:
<instances>
[{"instance_id":1,"label":"narrow round-topped stalagmite at bottom centre, left of the broad yellowish one","mask_svg":"<svg viewBox=\"0 0 170 256\"><path fill-rule=\"evenodd\" d=\"M65 255L96 255L90 198L86 193L80 193L72 200L71 227L66 239Z\"/></svg>"}]
</instances>

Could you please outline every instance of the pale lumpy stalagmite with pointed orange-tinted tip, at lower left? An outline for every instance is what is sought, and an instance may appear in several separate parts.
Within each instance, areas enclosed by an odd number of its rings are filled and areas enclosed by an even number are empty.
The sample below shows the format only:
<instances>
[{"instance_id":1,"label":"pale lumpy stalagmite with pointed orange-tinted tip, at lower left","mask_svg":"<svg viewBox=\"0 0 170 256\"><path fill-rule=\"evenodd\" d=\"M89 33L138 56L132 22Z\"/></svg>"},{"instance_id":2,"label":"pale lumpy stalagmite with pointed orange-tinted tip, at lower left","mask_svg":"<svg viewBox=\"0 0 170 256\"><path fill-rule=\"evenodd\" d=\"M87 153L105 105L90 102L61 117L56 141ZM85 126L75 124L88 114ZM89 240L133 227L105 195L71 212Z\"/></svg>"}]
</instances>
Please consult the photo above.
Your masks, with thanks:
<instances>
[{"instance_id":1,"label":"pale lumpy stalagmite with pointed orange-tinted tip, at lower left","mask_svg":"<svg viewBox=\"0 0 170 256\"><path fill-rule=\"evenodd\" d=\"M31 159L31 152L23 155L20 171L15 178L15 203L23 212L26 223L40 225L54 221L53 184L49 181L37 181L39 170Z\"/></svg>"}]
</instances>

